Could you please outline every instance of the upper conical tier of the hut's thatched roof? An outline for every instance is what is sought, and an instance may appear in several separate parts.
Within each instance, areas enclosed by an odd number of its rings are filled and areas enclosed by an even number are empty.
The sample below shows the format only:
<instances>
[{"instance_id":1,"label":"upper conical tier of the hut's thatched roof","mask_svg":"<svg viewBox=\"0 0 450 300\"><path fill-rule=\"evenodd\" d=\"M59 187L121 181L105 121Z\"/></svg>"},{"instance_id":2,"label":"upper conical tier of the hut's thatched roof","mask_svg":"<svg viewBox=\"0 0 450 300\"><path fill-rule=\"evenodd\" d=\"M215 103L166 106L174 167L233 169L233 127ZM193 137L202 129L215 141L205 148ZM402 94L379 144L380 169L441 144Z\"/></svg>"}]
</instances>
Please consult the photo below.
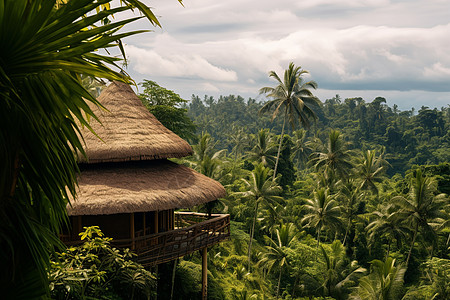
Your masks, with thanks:
<instances>
[{"instance_id":1,"label":"upper conical tier of the hut's thatched roof","mask_svg":"<svg viewBox=\"0 0 450 300\"><path fill-rule=\"evenodd\" d=\"M192 154L191 146L164 127L129 85L111 83L98 101L108 110L91 106L102 123L95 120L90 123L98 137L86 128L82 129L89 163L152 160ZM79 162L86 162L86 159L79 155Z\"/></svg>"}]
</instances>

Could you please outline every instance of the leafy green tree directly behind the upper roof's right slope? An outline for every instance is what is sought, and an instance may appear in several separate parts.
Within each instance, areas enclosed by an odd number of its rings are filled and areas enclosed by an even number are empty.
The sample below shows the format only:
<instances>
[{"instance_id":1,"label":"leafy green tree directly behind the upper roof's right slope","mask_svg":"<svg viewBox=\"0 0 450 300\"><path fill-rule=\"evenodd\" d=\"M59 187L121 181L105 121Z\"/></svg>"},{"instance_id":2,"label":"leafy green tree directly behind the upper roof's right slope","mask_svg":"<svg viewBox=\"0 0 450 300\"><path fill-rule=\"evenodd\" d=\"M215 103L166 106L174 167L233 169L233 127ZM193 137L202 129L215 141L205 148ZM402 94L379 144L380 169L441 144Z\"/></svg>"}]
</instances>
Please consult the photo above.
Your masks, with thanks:
<instances>
[{"instance_id":1,"label":"leafy green tree directly behind the upper roof's right slope","mask_svg":"<svg viewBox=\"0 0 450 300\"><path fill-rule=\"evenodd\" d=\"M195 125L183 108L184 100L174 91L159 86L156 82L144 79L140 85L144 88L139 94L142 103L167 128L180 137L194 141Z\"/></svg>"}]
</instances>

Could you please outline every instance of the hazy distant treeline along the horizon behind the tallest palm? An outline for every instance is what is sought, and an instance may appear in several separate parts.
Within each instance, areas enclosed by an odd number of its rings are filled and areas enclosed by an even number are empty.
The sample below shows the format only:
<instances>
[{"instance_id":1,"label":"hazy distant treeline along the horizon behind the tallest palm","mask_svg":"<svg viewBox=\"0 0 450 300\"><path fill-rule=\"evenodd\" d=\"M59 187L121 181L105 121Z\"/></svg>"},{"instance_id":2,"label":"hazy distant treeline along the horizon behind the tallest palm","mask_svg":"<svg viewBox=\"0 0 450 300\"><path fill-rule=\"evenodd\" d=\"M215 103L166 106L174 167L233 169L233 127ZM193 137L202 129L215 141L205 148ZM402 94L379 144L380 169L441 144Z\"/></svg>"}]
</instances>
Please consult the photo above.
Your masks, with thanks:
<instances>
[{"instance_id":1,"label":"hazy distant treeline along the horizon behind the tallest palm","mask_svg":"<svg viewBox=\"0 0 450 300\"><path fill-rule=\"evenodd\" d=\"M235 95L218 99L192 95L185 108L198 133L208 132L217 141L218 149L231 151L238 129L247 134L256 134L261 128L281 133L282 118L272 122L269 115L259 116L262 106L255 99ZM318 120L307 131L307 138L325 140L332 128L342 132L353 149L384 147L391 165L389 175L404 174L413 165L450 161L450 106L400 111L395 104L388 106L382 97L368 102L359 97L342 100L336 95L326 99L316 113Z\"/></svg>"}]
</instances>

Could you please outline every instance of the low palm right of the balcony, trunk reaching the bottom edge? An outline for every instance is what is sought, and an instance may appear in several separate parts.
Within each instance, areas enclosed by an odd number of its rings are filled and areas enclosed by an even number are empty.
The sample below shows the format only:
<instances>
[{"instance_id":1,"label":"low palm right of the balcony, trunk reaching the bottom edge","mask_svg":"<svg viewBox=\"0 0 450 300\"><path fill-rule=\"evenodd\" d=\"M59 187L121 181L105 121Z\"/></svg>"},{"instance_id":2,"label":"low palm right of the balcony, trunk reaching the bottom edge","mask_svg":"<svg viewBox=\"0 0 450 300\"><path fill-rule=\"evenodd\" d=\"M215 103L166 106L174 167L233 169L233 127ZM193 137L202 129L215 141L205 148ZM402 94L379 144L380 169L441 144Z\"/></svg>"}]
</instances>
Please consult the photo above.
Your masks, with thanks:
<instances>
[{"instance_id":1,"label":"low palm right of the balcony, trunk reaching the bottom edge","mask_svg":"<svg viewBox=\"0 0 450 300\"><path fill-rule=\"evenodd\" d=\"M284 268L289 264L288 252L292 242L296 239L296 229L294 224L281 224L279 229L275 230L276 240L266 237L266 241L269 243L266 246L267 252L263 253L258 265L267 268L267 272L270 273L272 269L278 269L278 285L276 298L280 293L281 275Z\"/></svg>"}]
</instances>

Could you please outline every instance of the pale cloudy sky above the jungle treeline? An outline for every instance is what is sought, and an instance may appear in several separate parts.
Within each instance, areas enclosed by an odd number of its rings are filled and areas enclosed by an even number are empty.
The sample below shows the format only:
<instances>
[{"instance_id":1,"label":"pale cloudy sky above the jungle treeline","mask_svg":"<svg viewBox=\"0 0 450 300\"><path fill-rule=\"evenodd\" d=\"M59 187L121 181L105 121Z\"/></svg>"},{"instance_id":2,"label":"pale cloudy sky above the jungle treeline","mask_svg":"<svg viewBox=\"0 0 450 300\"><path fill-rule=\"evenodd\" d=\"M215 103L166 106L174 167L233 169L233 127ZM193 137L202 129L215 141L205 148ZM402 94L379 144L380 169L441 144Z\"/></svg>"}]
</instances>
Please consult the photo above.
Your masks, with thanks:
<instances>
[{"instance_id":1,"label":"pale cloudy sky above the jungle treeline","mask_svg":"<svg viewBox=\"0 0 450 300\"><path fill-rule=\"evenodd\" d=\"M125 40L128 72L183 98L255 98L270 70L310 72L324 101L450 104L450 0L153 1L162 29ZM140 22L140 23L139 23ZM145 21L128 29L149 28ZM259 98L258 98L259 99Z\"/></svg>"}]
</instances>

